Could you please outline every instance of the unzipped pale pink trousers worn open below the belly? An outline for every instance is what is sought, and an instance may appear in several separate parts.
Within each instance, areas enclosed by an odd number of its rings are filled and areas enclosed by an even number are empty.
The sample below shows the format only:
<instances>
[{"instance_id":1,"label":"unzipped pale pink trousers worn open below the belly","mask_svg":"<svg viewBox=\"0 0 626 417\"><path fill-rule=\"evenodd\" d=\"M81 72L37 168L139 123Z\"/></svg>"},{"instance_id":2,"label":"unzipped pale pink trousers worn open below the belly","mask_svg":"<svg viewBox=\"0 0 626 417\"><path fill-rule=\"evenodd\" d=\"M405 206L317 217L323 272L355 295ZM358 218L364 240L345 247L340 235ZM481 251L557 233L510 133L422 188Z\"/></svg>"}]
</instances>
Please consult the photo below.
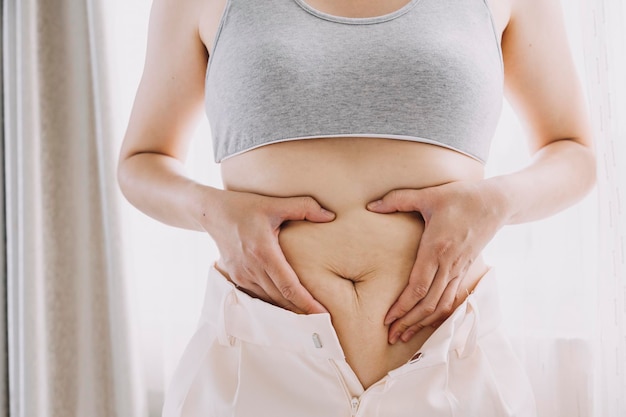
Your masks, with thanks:
<instances>
[{"instance_id":1,"label":"unzipped pale pink trousers worn open below the belly","mask_svg":"<svg viewBox=\"0 0 626 417\"><path fill-rule=\"evenodd\" d=\"M499 323L489 272L411 360L364 390L329 314L251 298L212 269L163 417L535 416Z\"/></svg>"}]
</instances>

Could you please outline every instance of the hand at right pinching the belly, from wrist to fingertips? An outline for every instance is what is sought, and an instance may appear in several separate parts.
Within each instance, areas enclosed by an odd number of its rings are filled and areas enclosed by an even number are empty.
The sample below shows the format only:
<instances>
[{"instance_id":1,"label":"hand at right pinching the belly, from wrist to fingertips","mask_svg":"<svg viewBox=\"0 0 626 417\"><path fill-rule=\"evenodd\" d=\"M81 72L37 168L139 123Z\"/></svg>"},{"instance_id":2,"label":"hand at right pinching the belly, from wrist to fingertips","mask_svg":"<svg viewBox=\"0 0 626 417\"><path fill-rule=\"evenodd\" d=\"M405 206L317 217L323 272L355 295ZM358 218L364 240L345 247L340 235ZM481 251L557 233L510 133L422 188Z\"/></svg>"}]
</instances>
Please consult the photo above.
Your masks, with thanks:
<instances>
[{"instance_id":1,"label":"hand at right pinching the belly, from wrist to fingertips","mask_svg":"<svg viewBox=\"0 0 626 417\"><path fill-rule=\"evenodd\" d=\"M389 343L406 342L450 315L467 270L504 224L502 203L482 180L393 190L367 205L376 213L418 212L425 223L408 285L385 317Z\"/></svg>"}]
</instances>

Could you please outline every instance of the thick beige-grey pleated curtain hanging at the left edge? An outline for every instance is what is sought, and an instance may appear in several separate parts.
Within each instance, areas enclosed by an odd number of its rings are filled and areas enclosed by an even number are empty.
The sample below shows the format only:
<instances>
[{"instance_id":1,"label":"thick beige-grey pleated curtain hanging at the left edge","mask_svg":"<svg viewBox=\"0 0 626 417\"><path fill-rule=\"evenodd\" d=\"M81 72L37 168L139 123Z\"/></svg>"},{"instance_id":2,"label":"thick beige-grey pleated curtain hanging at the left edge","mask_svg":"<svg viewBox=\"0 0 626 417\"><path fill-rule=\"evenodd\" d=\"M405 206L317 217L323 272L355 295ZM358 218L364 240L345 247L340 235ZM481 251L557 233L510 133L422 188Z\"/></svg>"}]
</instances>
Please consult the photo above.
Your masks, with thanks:
<instances>
[{"instance_id":1,"label":"thick beige-grey pleated curtain hanging at the left edge","mask_svg":"<svg viewBox=\"0 0 626 417\"><path fill-rule=\"evenodd\" d=\"M145 415L98 0L5 6L10 415Z\"/></svg>"}]
</instances>

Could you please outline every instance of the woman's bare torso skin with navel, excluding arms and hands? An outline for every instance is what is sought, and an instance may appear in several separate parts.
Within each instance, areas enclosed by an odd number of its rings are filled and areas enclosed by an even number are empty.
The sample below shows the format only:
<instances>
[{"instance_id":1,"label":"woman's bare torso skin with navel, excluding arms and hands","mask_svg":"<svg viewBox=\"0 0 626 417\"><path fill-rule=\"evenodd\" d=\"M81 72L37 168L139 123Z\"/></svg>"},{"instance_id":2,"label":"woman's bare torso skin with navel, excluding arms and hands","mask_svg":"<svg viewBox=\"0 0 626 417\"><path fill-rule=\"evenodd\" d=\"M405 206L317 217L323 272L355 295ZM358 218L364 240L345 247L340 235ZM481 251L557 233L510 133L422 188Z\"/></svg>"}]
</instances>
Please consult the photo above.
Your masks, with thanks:
<instances>
[{"instance_id":1,"label":"woman's bare torso skin with navel, excluding arms and hands","mask_svg":"<svg viewBox=\"0 0 626 417\"><path fill-rule=\"evenodd\" d=\"M333 2L307 3L335 15L367 17L392 12L406 2L371 2L360 15ZM223 4L216 0L207 7L200 31L206 45L213 45ZM496 22L503 27L502 20ZM366 204L393 189L482 177L483 164L462 153L380 138L274 143L222 162L226 189L309 195L336 213L326 224L289 222L279 240L303 285L331 313L346 358L365 387L406 362L434 331L426 328L408 343L388 344L384 317L408 282L424 224L419 214L376 214ZM460 294L473 288L484 272L479 258Z\"/></svg>"}]
</instances>

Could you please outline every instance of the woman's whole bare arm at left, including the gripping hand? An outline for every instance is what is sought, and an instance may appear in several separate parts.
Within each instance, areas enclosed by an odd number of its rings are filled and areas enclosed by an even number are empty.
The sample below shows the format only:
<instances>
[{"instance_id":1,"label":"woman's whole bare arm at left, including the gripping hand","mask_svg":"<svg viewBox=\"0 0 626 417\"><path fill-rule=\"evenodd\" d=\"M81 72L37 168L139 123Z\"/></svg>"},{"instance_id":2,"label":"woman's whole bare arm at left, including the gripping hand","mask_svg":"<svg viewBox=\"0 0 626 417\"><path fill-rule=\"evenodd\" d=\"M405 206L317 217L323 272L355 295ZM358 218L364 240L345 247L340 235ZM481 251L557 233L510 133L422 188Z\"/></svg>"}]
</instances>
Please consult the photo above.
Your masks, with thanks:
<instances>
[{"instance_id":1,"label":"woman's whole bare arm at left, including the gripping hand","mask_svg":"<svg viewBox=\"0 0 626 417\"><path fill-rule=\"evenodd\" d=\"M206 22L217 27L214 16L204 17L217 2L154 0L144 73L120 152L120 188L147 215L208 232L236 284L296 312L324 312L287 263L278 233L287 220L325 222L334 215L310 197L224 191L185 172L191 133L202 115L208 60L199 22L206 19L205 30L211 26Z\"/></svg>"}]
</instances>

